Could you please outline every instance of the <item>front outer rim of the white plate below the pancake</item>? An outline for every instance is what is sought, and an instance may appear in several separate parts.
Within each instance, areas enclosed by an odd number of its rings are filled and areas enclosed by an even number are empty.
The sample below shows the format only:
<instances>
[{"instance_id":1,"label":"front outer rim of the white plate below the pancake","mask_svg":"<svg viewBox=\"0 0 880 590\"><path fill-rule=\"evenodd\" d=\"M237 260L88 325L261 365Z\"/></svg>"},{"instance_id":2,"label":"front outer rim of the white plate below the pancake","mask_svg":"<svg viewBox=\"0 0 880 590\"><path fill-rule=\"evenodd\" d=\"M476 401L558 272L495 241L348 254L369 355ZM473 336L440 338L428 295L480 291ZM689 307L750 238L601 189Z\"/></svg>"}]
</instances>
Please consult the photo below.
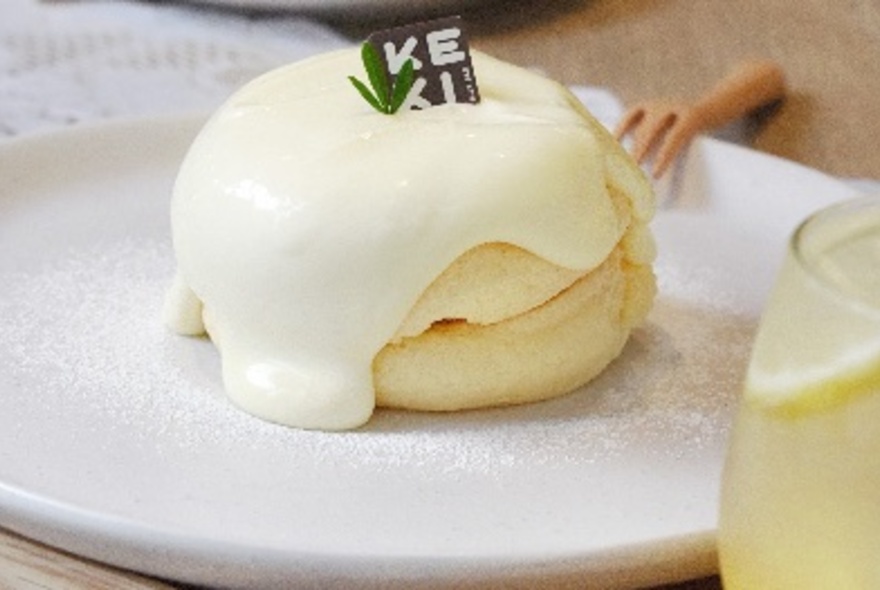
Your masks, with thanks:
<instances>
[{"instance_id":1,"label":"front outer rim of the white plate below the pancake","mask_svg":"<svg viewBox=\"0 0 880 590\"><path fill-rule=\"evenodd\" d=\"M29 496L35 499L32 501ZM591 577L607 572L609 567L626 570L626 583L615 586L620 588L686 581L717 571L716 536L711 529L608 547L588 554L548 556L536 551L532 555L430 559L387 554L290 552L174 535L65 502L47 500L2 481L0 506L5 508L0 526L28 539L123 569L199 585L218 582L216 573L200 574L216 568L218 558L224 560L224 587L246 587L254 583L251 572L254 568L260 570L261 587L282 587L290 582L291 568L307 572L316 564L320 569L332 571L337 584L341 582L345 587L347 583L357 582L362 588L410 588L414 583L426 581L426 569L434 574L430 578L432 582L443 585L482 582L504 583L506 588L534 588L538 581L550 581L552 584L546 587L554 589L571 583L577 588L592 588L596 582L596 588L607 588L606 580ZM139 557L143 554L160 559L145 561ZM548 559L552 562L550 567ZM441 572L437 571L438 566ZM658 569L664 570L662 578L657 576ZM300 581L322 587L326 583L320 573L305 575Z\"/></svg>"}]
</instances>

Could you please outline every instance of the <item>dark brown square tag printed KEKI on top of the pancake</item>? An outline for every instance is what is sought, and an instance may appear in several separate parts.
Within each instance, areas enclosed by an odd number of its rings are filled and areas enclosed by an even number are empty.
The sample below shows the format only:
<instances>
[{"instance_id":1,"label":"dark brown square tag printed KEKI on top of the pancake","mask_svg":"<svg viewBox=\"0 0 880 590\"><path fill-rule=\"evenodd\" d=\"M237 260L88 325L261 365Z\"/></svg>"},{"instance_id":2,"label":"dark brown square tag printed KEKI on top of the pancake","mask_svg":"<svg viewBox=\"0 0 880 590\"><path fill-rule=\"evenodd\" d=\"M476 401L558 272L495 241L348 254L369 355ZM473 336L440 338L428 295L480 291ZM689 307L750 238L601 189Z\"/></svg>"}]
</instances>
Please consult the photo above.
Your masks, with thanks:
<instances>
[{"instance_id":1,"label":"dark brown square tag printed KEKI on top of the pancake","mask_svg":"<svg viewBox=\"0 0 880 590\"><path fill-rule=\"evenodd\" d=\"M461 17L453 16L377 31L367 38L395 80L413 60L415 81L401 109L427 109L446 103L480 102L470 47Z\"/></svg>"}]
</instances>

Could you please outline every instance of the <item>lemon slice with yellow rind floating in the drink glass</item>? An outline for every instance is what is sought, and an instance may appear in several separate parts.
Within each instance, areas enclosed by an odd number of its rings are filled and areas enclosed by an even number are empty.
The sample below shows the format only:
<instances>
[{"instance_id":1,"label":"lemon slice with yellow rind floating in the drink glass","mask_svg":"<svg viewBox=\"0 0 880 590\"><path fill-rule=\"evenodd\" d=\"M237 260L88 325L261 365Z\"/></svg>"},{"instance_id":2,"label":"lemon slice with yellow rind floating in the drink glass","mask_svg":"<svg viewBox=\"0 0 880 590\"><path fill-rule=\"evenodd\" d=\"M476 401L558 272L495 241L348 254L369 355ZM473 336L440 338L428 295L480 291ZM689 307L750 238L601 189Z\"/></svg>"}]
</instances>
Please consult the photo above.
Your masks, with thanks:
<instances>
[{"instance_id":1,"label":"lemon slice with yellow rind floating in the drink glass","mask_svg":"<svg viewBox=\"0 0 880 590\"><path fill-rule=\"evenodd\" d=\"M788 416L880 391L880 223L852 216L801 248L783 265L745 388L749 403Z\"/></svg>"}]
</instances>

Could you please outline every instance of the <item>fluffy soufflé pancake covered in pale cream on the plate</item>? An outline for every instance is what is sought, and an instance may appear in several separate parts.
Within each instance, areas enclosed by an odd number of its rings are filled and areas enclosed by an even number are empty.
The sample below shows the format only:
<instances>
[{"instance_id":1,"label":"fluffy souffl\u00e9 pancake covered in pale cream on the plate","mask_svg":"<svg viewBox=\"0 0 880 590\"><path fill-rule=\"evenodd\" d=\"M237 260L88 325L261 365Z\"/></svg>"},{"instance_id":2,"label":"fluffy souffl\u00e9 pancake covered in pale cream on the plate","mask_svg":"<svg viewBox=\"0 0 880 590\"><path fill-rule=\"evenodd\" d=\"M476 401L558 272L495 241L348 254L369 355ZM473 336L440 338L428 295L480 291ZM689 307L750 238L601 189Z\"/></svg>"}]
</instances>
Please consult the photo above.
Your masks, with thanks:
<instances>
[{"instance_id":1,"label":"fluffy souffl\u00e9 pancake covered in pale cream on the plate","mask_svg":"<svg viewBox=\"0 0 880 590\"><path fill-rule=\"evenodd\" d=\"M356 49L270 72L196 138L166 321L229 397L340 430L576 389L655 294L650 186L567 89L472 52L478 104L377 113Z\"/></svg>"}]
</instances>

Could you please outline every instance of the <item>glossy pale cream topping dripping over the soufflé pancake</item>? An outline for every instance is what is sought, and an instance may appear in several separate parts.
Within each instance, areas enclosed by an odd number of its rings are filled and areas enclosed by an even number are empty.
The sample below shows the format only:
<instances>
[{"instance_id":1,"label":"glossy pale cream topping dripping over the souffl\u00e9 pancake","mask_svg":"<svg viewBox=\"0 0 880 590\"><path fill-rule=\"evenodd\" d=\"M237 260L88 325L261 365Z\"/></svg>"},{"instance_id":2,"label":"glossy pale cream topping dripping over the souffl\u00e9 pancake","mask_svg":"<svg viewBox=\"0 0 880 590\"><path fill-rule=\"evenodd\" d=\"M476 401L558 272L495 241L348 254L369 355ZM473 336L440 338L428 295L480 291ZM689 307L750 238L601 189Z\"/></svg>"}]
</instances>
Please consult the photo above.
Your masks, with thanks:
<instances>
[{"instance_id":1,"label":"glossy pale cream topping dripping over the souffl\u00e9 pancake","mask_svg":"<svg viewBox=\"0 0 880 590\"><path fill-rule=\"evenodd\" d=\"M196 138L172 199L166 322L207 329L237 405L357 427L373 357L461 254L505 242L588 271L626 230L609 186L651 217L644 179L563 87L473 63L480 104L387 116L347 80L358 51L326 54L254 80Z\"/></svg>"}]
</instances>

